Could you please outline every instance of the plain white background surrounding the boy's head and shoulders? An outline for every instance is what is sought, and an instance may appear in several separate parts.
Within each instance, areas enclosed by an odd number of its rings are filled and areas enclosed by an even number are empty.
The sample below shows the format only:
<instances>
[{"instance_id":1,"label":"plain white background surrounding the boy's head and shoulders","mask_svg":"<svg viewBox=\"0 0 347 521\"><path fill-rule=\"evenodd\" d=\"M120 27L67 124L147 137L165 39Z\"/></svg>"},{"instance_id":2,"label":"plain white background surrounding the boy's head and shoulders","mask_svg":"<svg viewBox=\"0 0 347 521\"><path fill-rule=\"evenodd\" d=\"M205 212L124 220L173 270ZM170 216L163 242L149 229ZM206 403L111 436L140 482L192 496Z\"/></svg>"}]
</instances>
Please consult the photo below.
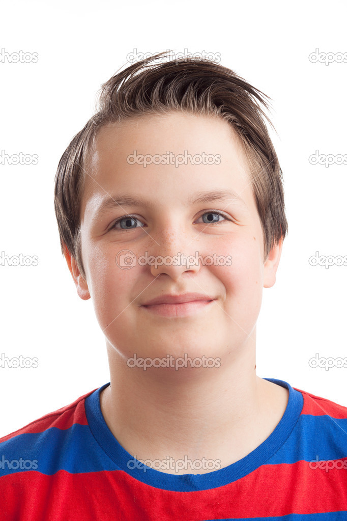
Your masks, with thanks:
<instances>
[{"instance_id":1,"label":"plain white background surrounding the boy's head and shoulders","mask_svg":"<svg viewBox=\"0 0 347 521\"><path fill-rule=\"evenodd\" d=\"M347 154L347 64L309 60L317 47L347 52L346 10L343 1L3 5L0 47L38 61L0 63L0 150L37 154L38 164L0 164L0 252L37 255L38 265L0 266L0 354L37 357L38 367L0 367L0 436L109 381L92 301L80 300L60 253L54 176L101 83L135 48L220 53L272 98L289 234L276 284L263 292L258 375L347 405L347 368L309 366L315 353L347 356L347 267L309 264L316 251L347 255L347 167L308 159Z\"/></svg>"}]
</instances>

